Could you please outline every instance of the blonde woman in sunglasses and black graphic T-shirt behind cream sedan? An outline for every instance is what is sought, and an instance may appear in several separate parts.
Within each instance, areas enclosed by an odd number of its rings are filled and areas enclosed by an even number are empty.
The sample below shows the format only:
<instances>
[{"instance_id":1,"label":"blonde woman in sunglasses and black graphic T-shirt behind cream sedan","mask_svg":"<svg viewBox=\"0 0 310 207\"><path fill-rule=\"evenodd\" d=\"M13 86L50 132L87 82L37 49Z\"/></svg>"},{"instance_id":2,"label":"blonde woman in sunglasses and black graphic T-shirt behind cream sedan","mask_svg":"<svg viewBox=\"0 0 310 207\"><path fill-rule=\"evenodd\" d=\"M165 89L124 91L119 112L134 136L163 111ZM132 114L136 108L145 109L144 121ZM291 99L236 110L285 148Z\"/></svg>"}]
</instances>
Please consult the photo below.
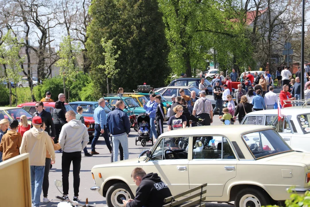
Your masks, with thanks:
<instances>
[{"instance_id":1,"label":"blonde woman in sunglasses and black graphic T-shirt behind cream sedan","mask_svg":"<svg viewBox=\"0 0 310 207\"><path fill-rule=\"evenodd\" d=\"M187 119L183 114L183 106L177 105L173 108L173 111L175 112L174 116L171 116L168 124L168 131L185 128Z\"/></svg>"}]
</instances>

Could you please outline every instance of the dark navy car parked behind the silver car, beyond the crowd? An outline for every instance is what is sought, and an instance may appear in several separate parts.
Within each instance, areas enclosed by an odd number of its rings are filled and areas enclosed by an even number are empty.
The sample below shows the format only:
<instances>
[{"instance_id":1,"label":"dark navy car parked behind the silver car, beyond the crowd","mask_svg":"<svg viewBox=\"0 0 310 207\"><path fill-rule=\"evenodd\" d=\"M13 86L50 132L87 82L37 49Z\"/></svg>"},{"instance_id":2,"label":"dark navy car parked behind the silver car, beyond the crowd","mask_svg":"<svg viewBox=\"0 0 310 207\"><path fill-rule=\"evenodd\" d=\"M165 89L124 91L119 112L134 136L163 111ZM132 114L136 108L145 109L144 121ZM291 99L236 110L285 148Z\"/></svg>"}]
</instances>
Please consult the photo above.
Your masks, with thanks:
<instances>
[{"instance_id":1,"label":"dark navy car parked behind the silver car, beyond the crowd","mask_svg":"<svg viewBox=\"0 0 310 207\"><path fill-rule=\"evenodd\" d=\"M199 83L201 78L177 78L171 81L168 86L193 86L199 89ZM212 86L208 79L205 79L204 82L205 87L208 89L208 93L212 94Z\"/></svg>"}]
</instances>

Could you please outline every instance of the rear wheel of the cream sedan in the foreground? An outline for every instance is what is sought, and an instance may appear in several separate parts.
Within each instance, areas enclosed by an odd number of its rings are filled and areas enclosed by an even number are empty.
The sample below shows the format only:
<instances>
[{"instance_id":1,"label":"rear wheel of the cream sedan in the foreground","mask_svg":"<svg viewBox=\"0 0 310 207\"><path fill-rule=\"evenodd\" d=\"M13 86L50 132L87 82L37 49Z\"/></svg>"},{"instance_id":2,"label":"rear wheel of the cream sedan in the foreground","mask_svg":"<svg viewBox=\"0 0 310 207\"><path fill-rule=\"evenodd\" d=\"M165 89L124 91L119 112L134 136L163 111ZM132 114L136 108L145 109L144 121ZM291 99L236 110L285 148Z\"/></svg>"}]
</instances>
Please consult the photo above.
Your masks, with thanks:
<instances>
[{"instance_id":1,"label":"rear wheel of the cream sedan in the foreground","mask_svg":"<svg viewBox=\"0 0 310 207\"><path fill-rule=\"evenodd\" d=\"M241 190L235 200L236 207L261 207L270 204L268 195L254 188L245 188Z\"/></svg>"}]
</instances>

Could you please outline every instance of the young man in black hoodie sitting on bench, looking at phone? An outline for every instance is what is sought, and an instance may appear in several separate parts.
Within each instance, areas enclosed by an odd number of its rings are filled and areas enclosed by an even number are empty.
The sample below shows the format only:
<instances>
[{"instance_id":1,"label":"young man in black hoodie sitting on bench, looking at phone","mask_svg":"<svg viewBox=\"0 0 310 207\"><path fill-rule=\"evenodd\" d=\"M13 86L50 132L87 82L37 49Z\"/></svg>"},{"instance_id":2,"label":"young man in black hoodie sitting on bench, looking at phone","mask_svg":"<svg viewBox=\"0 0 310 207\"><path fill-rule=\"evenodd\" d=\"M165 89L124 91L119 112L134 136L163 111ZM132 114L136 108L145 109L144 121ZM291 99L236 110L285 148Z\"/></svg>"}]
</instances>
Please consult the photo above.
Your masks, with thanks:
<instances>
[{"instance_id":1,"label":"young man in black hoodie sitting on bench, looking at phone","mask_svg":"<svg viewBox=\"0 0 310 207\"><path fill-rule=\"evenodd\" d=\"M138 186L135 199L123 200L126 207L163 206L164 199L172 196L168 186L162 182L157 173L146 174L142 168L135 168L131 178Z\"/></svg>"}]
</instances>

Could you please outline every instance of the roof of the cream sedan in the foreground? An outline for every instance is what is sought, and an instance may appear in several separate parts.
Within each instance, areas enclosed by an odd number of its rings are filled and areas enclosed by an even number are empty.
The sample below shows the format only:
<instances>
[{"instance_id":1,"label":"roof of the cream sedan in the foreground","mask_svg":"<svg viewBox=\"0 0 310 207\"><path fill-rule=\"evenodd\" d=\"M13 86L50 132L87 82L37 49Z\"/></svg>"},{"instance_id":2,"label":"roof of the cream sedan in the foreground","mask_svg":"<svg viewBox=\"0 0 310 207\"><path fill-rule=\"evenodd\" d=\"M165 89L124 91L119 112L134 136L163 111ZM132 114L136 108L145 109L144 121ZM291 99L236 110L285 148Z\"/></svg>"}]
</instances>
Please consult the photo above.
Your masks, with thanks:
<instances>
[{"instance_id":1,"label":"roof of the cream sedan in the foreground","mask_svg":"<svg viewBox=\"0 0 310 207\"><path fill-rule=\"evenodd\" d=\"M189 127L178 130L171 130L163 133L164 136L184 136L184 135L218 135L228 137L230 141L235 141L241 138L242 134L251 133L256 130L272 129L269 126L263 125L212 125L212 126L200 126L200 127Z\"/></svg>"}]
</instances>

